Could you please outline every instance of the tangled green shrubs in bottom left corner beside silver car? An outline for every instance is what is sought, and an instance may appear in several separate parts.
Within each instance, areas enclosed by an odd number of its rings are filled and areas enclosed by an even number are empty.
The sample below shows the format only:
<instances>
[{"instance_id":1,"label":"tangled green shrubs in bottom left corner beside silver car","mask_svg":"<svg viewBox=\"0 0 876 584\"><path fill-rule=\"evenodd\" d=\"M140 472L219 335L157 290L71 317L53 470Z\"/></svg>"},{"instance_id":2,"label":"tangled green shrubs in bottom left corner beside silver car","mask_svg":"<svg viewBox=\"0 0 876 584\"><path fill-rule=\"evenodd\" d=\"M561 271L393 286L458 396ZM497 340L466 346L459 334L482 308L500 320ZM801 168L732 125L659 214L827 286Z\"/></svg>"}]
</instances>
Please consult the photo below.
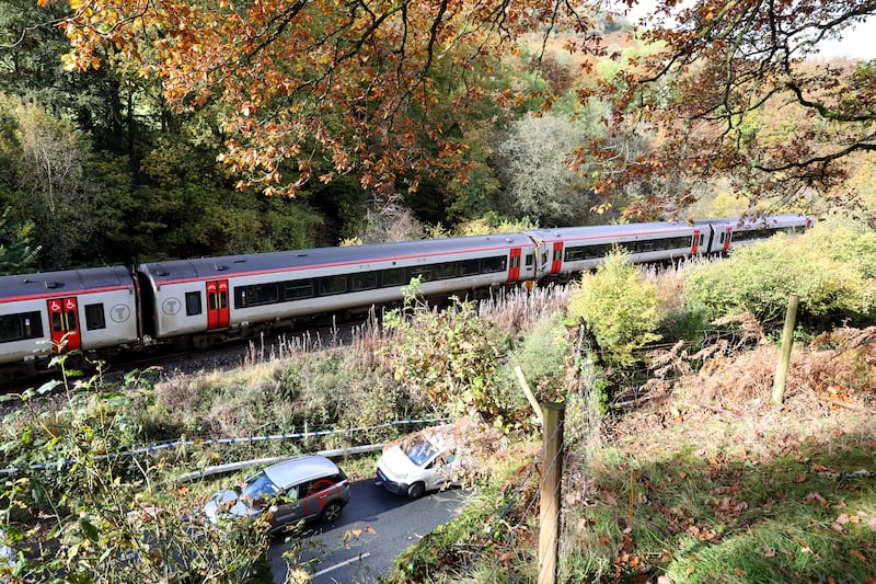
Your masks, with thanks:
<instances>
[{"instance_id":1,"label":"tangled green shrubs in bottom left corner beside silver car","mask_svg":"<svg viewBox=\"0 0 876 584\"><path fill-rule=\"evenodd\" d=\"M165 486L164 466L115 456L138 434L130 412L148 385L129 376L123 391L100 375L65 386L60 406L49 387L7 396L0 524L20 556L22 582L240 581L266 549L265 531L206 525L188 490ZM134 408L132 408L134 406Z\"/></svg>"}]
</instances>

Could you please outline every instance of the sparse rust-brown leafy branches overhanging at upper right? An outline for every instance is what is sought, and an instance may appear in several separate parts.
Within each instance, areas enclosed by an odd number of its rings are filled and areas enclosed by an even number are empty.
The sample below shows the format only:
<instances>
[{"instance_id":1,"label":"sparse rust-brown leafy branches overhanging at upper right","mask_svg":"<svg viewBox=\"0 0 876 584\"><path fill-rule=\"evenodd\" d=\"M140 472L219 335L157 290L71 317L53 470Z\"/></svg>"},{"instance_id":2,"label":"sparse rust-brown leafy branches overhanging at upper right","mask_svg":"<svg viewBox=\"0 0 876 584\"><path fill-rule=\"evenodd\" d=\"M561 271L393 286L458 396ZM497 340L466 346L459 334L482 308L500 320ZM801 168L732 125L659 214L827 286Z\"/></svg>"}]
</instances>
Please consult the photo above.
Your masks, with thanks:
<instances>
[{"instance_id":1,"label":"sparse rust-brown leafy branches overhanging at upper right","mask_svg":"<svg viewBox=\"0 0 876 584\"><path fill-rule=\"evenodd\" d=\"M661 49L603 88L615 122L652 128L659 152L630 164L624 179L606 173L602 188L642 173L688 179L683 192L645 199L643 214L684 201L715 174L785 207L814 191L828 195L850 154L876 151L876 68L818 59L819 45L874 14L871 0L659 0L641 38ZM776 121L793 127L762 131ZM601 154L616 170L616 154Z\"/></svg>"}]
</instances>

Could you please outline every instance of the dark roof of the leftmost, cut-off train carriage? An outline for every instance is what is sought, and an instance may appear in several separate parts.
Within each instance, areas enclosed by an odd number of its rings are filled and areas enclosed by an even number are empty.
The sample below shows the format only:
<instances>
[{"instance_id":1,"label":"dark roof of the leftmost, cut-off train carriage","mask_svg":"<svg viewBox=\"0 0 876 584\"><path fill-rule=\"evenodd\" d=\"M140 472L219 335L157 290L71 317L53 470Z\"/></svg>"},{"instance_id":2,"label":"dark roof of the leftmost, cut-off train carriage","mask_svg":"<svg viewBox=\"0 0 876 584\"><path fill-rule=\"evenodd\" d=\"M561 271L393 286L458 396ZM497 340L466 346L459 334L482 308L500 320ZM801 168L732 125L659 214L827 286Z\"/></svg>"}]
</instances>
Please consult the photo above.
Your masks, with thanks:
<instances>
[{"instance_id":1,"label":"dark roof of the leftmost, cut-off train carriage","mask_svg":"<svg viewBox=\"0 0 876 584\"><path fill-rule=\"evenodd\" d=\"M56 298L83 291L132 287L130 272L120 265L19 274L0 276L0 301Z\"/></svg>"}]
</instances>

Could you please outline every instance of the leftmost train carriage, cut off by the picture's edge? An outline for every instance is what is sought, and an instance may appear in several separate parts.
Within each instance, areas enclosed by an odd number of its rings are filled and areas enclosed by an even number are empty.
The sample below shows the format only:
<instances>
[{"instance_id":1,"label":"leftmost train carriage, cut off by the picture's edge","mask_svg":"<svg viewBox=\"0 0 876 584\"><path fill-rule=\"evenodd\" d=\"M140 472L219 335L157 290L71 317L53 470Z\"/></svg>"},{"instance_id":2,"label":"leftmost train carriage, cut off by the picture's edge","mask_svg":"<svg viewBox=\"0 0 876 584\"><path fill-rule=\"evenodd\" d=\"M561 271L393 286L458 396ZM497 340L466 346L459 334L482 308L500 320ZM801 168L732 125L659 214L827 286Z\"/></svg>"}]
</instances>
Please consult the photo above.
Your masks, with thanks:
<instances>
[{"instance_id":1,"label":"leftmost train carriage, cut off by the picture's edge","mask_svg":"<svg viewBox=\"0 0 876 584\"><path fill-rule=\"evenodd\" d=\"M0 277L0 363L134 344L137 322L123 266Z\"/></svg>"}]
</instances>

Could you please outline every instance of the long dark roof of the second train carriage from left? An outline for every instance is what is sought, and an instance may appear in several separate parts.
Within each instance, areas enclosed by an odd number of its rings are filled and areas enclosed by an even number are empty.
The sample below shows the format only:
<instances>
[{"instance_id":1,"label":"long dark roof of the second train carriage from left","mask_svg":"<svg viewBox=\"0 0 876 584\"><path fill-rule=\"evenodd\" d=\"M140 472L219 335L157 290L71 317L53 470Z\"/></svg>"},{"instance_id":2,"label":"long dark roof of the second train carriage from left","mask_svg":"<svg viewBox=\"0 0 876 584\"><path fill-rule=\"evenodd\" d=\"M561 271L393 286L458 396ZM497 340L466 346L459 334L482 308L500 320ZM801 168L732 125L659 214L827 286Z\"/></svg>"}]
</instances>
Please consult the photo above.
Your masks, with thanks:
<instances>
[{"instance_id":1,"label":"long dark roof of the second train carriage from left","mask_svg":"<svg viewBox=\"0 0 876 584\"><path fill-rule=\"evenodd\" d=\"M283 252L198 257L168 262L150 262L140 265L140 272L153 282L203 279L229 275L260 274L275 271L293 271L309 267L357 265L369 262L405 260L465 252L504 252L514 247L532 245L523 233L496 233L464 238L428 239L393 243L369 243L343 248L314 248Z\"/></svg>"}]
</instances>

